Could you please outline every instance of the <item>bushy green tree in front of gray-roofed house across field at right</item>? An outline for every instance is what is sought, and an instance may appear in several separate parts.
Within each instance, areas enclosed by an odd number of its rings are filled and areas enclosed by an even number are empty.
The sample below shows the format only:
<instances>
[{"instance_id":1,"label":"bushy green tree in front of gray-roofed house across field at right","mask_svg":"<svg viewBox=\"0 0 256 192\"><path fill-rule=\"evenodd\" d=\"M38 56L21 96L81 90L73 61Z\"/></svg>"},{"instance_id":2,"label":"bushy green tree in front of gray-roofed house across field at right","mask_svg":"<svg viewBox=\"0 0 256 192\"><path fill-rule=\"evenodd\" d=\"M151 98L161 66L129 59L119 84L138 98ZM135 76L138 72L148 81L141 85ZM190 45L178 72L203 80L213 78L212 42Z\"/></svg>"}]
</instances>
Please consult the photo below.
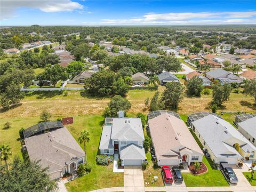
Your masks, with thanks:
<instances>
[{"instance_id":1,"label":"bushy green tree in front of gray-roofed house across field at right","mask_svg":"<svg viewBox=\"0 0 256 192\"><path fill-rule=\"evenodd\" d=\"M223 102L229 100L229 95L232 91L232 87L230 84L225 83L221 85L220 83L214 84L212 86L212 98L213 102L218 106L221 106Z\"/></svg>"}]
</instances>

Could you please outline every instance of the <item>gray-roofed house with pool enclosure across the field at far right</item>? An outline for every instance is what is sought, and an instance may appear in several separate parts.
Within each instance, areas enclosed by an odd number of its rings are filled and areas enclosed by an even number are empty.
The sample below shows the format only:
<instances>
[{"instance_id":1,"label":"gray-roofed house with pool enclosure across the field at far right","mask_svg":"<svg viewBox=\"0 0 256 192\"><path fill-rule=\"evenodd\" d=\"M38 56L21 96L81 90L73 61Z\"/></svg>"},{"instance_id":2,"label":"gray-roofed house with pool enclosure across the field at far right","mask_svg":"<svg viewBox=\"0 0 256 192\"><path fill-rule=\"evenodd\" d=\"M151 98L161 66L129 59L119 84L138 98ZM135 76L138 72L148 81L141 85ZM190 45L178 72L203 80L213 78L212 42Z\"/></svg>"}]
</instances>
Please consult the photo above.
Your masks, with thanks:
<instances>
[{"instance_id":1,"label":"gray-roofed house with pool enclosure across the field at far right","mask_svg":"<svg viewBox=\"0 0 256 192\"><path fill-rule=\"evenodd\" d=\"M222 84L223 83L241 83L242 78L231 74L230 72L224 69L215 69L208 71L205 76L211 80L219 80Z\"/></svg>"}]
</instances>

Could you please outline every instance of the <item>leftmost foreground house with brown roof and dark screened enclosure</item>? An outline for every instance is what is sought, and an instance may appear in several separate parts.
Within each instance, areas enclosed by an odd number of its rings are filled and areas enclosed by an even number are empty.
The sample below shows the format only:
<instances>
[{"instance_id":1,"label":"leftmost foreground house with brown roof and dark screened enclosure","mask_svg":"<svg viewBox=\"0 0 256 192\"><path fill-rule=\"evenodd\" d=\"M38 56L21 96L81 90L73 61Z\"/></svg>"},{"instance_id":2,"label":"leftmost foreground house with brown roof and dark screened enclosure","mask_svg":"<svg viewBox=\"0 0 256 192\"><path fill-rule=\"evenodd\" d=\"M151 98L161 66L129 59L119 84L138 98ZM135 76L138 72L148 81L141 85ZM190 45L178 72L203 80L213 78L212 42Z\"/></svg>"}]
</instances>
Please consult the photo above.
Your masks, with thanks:
<instances>
[{"instance_id":1,"label":"leftmost foreground house with brown roof and dark screened enclosure","mask_svg":"<svg viewBox=\"0 0 256 192\"><path fill-rule=\"evenodd\" d=\"M23 131L30 161L39 161L49 167L51 179L73 174L79 164L85 163L85 153L60 121L43 122Z\"/></svg>"}]
</instances>

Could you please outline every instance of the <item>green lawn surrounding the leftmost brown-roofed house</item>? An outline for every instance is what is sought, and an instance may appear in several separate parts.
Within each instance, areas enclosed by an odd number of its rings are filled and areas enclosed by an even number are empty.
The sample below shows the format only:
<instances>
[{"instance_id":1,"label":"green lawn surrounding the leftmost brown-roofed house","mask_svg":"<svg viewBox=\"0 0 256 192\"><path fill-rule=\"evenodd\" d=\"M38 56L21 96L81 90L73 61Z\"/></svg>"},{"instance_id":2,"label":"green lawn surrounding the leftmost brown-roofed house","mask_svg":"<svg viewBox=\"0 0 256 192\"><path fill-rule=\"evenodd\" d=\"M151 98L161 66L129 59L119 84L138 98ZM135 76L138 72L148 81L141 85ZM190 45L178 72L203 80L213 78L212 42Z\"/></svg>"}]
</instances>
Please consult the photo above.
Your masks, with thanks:
<instances>
[{"instance_id":1,"label":"green lawn surrounding the leftmost brown-roofed house","mask_svg":"<svg viewBox=\"0 0 256 192\"><path fill-rule=\"evenodd\" d=\"M56 120L58 117L54 116L51 120ZM3 129L3 125L6 122L0 122L0 144L6 143L10 145L13 158L15 155L22 157L21 145L19 140L19 129L24 127L25 129L40 121L39 117L26 117L26 118L12 118L8 119L11 123L11 127L8 130ZM101 115L76 115L74 116L74 124L67 125L67 129L77 140L81 130L87 130L90 133L90 142L86 145L87 162L92 165L91 173L84 175L84 177L78 178L67 184L69 191L90 191L93 189L105 188L105 187L118 187L123 186L123 173L113 173L113 165L101 166L96 164L96 155L98 153L98 147L100 142L101 130L102 130L103 117ZM83 148L83 145L81 145Z\"/></svg>"}]
</instances>

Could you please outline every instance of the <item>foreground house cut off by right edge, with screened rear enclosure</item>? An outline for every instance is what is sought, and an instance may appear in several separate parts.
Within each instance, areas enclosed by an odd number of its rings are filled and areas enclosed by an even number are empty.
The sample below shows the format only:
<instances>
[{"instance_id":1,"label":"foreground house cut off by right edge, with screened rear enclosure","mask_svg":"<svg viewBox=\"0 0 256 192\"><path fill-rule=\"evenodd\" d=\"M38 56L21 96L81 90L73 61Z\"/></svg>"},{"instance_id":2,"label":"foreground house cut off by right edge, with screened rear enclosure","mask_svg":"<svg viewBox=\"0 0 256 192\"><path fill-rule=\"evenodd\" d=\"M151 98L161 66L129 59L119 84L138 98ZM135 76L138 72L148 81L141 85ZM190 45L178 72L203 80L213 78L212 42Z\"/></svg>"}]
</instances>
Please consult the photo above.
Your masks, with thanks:
<instances>
[{"instance_id":1,"label":"foreground house cut off by right edge, with screened rear enclosure","mask_svg":"<svg viewBox=\"0 0 256 192\"><path fill-rule=\"evenodd\" d=\"M242 114L236 116L238 131L256 147L256 115Z\"/></svg>"}]
</instances>

